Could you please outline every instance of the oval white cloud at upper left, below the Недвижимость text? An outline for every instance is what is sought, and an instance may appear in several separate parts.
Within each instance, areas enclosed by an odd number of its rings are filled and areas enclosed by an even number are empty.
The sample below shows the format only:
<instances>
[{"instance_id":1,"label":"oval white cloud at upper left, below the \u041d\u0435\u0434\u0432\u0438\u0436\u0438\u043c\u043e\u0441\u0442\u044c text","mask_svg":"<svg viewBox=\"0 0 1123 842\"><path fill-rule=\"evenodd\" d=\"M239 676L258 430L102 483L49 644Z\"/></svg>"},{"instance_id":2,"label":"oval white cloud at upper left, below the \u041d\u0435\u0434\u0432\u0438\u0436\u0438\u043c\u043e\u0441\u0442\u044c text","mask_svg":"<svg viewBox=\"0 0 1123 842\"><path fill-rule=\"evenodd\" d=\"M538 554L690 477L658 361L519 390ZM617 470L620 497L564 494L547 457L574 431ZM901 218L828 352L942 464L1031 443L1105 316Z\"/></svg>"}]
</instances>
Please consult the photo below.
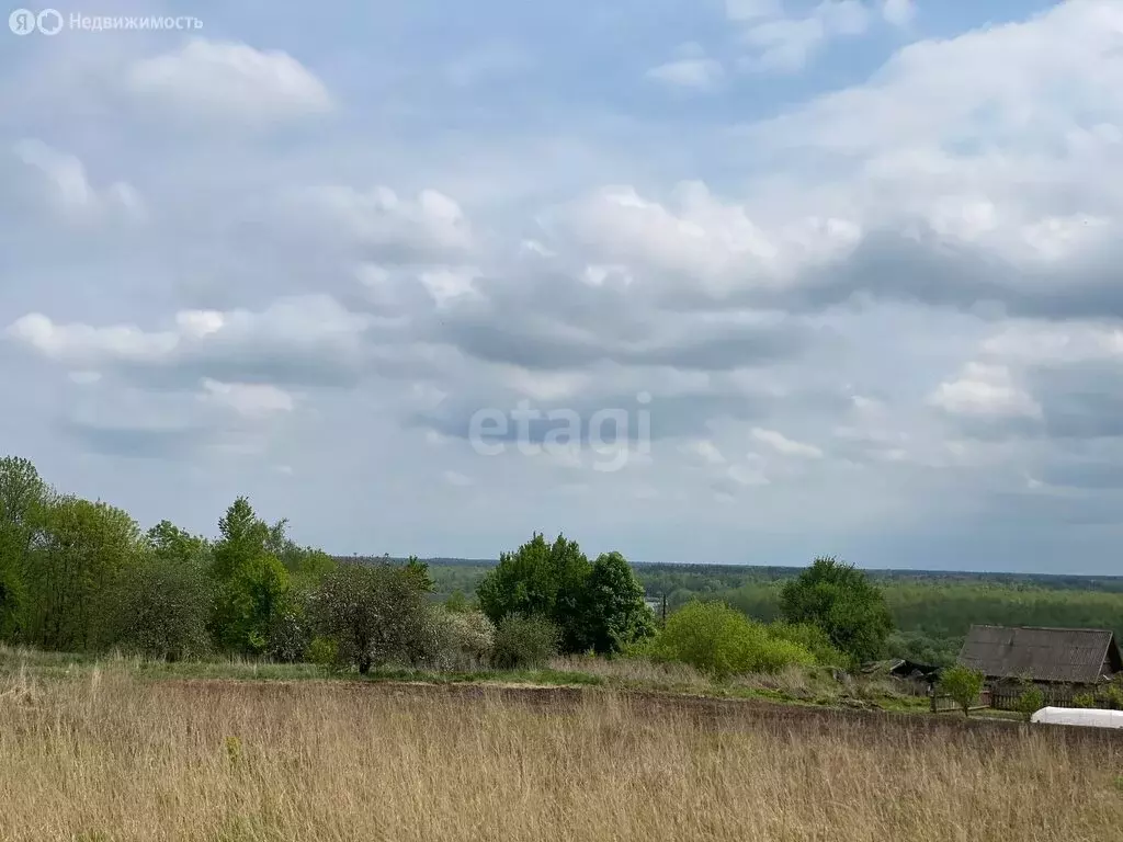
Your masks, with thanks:
<instances>
[{"instance_id":1,"label":"oval white cloud at upper left, below the \u041d\u0435\u0434\u0432\u0438\u0436\u0438\u043c\u043e\u0441\u0442\u044c text","mask_svg":"<svg viewBox=\"0 0 1123 842\"><path fill-rule=\"evenodd\" d=\"M137 61L126 83L134 93L191 117L252 125L332 108L323 83L287 53L204 38Z\"/></svg>"}]
</instances>

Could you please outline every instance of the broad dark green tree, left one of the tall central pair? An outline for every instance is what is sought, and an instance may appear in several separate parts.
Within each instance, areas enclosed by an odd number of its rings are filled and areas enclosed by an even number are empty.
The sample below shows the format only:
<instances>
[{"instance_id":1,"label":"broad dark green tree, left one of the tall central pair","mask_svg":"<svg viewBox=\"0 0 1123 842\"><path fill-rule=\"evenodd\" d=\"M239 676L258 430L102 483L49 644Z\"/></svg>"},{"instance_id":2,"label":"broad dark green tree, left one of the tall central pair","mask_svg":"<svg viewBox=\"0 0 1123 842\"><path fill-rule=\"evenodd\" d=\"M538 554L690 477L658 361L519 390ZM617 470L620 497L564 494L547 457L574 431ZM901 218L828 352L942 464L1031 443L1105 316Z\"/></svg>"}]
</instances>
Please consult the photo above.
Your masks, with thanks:
<instances>
[{"instance_id":1,"label":"broad dark green tree, left one of the tall central pair","mask_svg":"<svg viewBox=\"0 0 1123 842\"><path fill-rule=\"evenodd\" d=\"M499 625L511 614L544 616L560 630L565 652L592 646L586 626L586 583L592 565L576 541L558 536L554 543L536 533L499 565L476 589L480 607Z\"/></svg>"}]
</instances>

